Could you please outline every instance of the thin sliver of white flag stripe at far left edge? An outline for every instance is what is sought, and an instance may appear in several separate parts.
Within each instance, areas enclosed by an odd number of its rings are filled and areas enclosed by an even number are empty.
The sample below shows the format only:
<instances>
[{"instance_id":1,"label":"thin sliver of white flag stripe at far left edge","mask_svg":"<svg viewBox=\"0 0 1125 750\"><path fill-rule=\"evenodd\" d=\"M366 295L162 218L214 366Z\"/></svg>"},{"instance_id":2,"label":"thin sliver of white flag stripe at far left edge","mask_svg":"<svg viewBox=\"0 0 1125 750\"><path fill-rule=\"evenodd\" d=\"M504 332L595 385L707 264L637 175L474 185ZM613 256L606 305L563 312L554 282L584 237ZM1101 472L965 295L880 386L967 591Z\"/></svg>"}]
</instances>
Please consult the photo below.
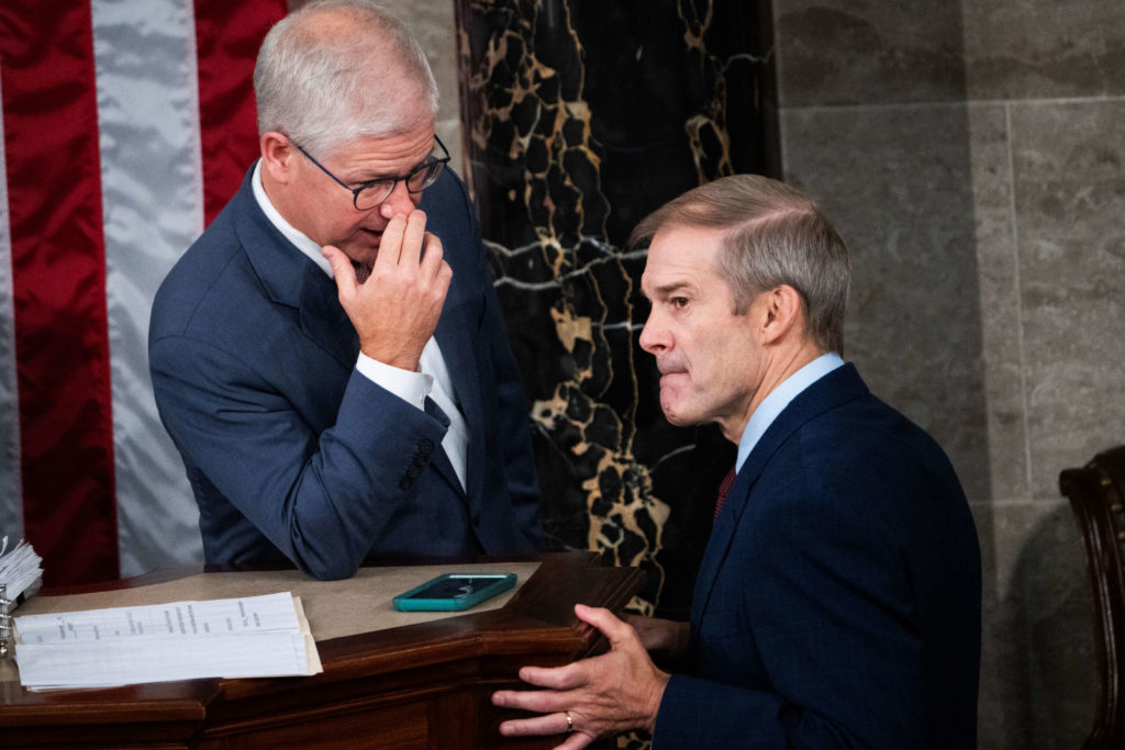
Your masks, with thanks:
<instances>
[{"instance_id":1,"label":"thin sliver of white flag stripe at far left edge","mask_svg":"<svg viewBox=\"0 0 1125 750\"><path fill-rule=\"evenodd\" d=\"M0 116L0 536L18 540L24 535L24 493L19 476L19 387L16 382L16 313L8 216L8 165L3 117Z\"/></svg>"}]
</instances>

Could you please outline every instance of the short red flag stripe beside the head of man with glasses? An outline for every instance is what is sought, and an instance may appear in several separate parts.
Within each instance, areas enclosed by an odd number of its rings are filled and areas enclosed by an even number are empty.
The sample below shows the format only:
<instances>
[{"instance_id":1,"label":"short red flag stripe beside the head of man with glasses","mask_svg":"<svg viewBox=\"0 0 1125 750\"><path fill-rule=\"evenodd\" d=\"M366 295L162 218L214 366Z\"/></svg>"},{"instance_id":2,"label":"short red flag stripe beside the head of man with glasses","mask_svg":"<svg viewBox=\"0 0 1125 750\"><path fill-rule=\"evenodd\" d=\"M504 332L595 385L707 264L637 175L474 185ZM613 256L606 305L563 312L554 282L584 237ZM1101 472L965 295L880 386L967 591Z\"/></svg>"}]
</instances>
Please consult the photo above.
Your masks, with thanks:
<instances>
[{"instance_id":1,"label":"short red flag stripe beside the head of man with glasses","mask_svg":"<svg viewBox=\"0 0 1125 750\"><path fill-rule=\"evenodd\" d=\"M199 126L207 224L242 183L258 155L253 72L258 47L288 10L286 0L195 0Z\"/></svg>"}]
</instances>

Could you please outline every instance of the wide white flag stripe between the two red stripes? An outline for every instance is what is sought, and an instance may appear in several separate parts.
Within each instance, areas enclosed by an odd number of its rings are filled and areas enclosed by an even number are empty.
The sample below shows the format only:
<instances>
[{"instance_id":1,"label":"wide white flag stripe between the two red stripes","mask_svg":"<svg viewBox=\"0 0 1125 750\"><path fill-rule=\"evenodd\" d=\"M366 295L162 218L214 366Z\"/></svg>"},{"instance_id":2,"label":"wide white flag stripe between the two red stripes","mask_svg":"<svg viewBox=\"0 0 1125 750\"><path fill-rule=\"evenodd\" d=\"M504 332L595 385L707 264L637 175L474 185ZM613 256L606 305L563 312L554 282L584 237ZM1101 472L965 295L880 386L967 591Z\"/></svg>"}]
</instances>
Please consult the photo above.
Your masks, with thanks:
<instances>
[{"instance_id":1,"label":"wide white flag stripe between the two red stripes","mask_svg":"<svg viewBox=\"0 0 1125 750\"><path fill-rule=\"evenodd\" d=\"M148 313L202 231L191 0L92 0L122 576L200 562L198 510L156 415Z\"/></svg>"}]
</instances>

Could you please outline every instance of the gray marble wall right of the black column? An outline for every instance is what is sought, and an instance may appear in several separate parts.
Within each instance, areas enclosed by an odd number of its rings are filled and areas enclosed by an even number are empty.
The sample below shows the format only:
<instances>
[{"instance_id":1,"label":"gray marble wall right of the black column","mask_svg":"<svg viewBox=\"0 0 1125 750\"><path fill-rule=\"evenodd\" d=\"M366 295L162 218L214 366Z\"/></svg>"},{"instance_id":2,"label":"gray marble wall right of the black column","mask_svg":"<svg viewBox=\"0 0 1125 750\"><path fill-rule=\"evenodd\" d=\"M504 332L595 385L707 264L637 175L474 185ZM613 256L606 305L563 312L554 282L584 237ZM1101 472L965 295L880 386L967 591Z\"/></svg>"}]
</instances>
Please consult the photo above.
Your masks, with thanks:
<instances>
[{"instance_id":1,"label":"gray marble wall right of the black column","mask_svg":"<svg viewBox=\"0 0 1125 750\"><path fill-rule=\"evenodd\" d=\"M849 241L873 390L956 466L981 748L1077 748L1092 603L1060 470L1125 443L1125 4L774 0L783 163Z\"/></svg>"}]
</instances>

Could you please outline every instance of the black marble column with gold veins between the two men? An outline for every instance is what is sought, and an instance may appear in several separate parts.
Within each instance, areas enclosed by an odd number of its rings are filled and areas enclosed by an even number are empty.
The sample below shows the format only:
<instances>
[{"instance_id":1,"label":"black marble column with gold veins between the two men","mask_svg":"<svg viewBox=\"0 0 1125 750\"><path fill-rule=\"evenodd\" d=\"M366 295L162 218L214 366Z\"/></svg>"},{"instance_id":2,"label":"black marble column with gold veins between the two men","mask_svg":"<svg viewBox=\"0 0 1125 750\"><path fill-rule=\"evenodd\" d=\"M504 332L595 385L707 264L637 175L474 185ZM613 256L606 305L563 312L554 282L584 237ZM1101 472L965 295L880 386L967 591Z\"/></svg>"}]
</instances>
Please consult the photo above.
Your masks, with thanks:
<instances>
[{"instance_id":1,"label":"black marble column with gold veins between the two men","mask_svg":"<svg viewBox=\"0 0 1125 750\"><path fill-rule=\"evenodd\" d=\"M683 616L734 446L676 428L637 337L637 222L775 174L768 0L458 0L469 181L532 404L555 548L640 566Z\"/></svg>"}]
</instances>

